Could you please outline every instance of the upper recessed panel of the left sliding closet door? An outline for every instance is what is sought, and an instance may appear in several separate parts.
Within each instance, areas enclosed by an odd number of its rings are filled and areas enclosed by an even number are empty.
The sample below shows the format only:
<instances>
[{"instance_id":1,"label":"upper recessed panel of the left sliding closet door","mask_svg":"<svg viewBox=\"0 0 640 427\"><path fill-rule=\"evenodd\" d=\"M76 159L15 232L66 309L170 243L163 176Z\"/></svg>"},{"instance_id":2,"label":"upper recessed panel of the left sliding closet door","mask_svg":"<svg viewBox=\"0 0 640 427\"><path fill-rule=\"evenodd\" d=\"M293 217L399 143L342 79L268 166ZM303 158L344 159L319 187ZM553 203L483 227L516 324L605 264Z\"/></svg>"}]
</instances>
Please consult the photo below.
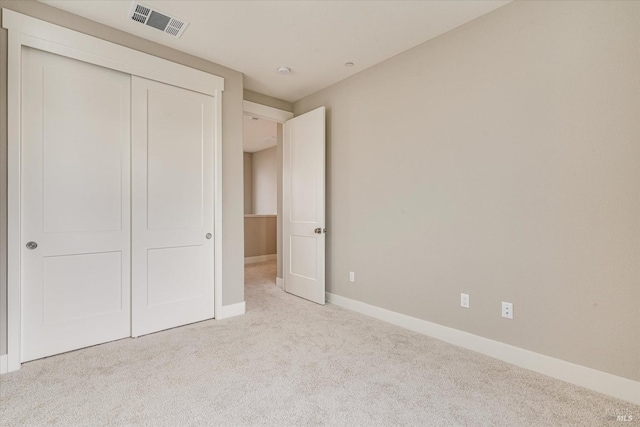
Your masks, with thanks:
<instances>
[{"instance_id":1,"label":"upper recessed panel of the left sliding closet door","mask_svg":"<svg viewBox=\"0 0 640 427\"><path fill-rule=\"evenodd\" d=\"M126 105L119 83L44 67L45 232L122 228Z\"/></svg>"}]
</instances>

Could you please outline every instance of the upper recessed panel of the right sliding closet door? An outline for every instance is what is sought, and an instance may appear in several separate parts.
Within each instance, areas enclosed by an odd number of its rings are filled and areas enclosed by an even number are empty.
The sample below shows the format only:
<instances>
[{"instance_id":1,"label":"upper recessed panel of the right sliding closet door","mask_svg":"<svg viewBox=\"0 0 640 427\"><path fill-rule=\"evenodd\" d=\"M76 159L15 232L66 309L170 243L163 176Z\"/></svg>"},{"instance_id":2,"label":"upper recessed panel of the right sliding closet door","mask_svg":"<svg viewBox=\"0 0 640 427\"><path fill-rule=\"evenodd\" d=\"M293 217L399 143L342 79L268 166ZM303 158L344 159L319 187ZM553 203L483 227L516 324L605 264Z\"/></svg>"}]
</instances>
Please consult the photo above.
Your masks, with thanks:
<instances>
[{"instance_id":1,"label":"upper recessed panel of the right sliding closet door","mask_svg":"<svg viewBox=\"0 0 640 427\"><path fill-rule=\"evenodd\" d=\"M202 227L203 105L148 92L148 227Z\"/></svg>"}]
</instances>

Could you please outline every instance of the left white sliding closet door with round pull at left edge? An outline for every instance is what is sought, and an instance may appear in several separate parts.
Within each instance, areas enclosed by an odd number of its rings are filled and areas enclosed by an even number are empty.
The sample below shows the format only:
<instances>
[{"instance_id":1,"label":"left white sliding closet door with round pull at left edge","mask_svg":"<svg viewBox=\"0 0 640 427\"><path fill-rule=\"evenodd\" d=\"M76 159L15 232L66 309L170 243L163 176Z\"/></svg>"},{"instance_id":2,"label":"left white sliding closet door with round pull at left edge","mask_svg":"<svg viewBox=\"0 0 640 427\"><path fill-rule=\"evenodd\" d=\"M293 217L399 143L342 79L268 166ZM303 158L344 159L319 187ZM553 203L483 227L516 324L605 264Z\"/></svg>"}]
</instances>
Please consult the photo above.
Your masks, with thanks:
<instances>
[{"instance_id":1,"label":"left white sliding closet door with round pull at left edge","mask_svg":"<svg viewBox=\"0 0 640 427\"><path fill-rule=\"evenodd\" d=\"M22 52L22 352L130 335L127 74Z\"/></svg>"}]
</instances>

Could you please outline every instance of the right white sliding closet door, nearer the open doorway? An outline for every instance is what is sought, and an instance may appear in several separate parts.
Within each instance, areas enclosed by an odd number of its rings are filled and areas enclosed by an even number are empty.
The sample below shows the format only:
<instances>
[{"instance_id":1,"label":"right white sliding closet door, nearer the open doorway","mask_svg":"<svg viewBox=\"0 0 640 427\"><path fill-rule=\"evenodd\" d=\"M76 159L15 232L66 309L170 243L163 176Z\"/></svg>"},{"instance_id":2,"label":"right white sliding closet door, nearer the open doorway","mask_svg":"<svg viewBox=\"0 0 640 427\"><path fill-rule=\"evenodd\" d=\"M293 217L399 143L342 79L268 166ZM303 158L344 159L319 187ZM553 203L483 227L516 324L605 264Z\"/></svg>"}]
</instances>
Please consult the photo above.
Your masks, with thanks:
<instances>
[{"instance_id":1,"label":"right white sliding closet door, nearer the open doorway","mask_svg":"<svg viewBox=\"0 0 640 427\"><path fill-rule=\"evenodd\" d=\"M132 78L132 335L214 316L215 102Z\"/></svg>"}]
</instances>

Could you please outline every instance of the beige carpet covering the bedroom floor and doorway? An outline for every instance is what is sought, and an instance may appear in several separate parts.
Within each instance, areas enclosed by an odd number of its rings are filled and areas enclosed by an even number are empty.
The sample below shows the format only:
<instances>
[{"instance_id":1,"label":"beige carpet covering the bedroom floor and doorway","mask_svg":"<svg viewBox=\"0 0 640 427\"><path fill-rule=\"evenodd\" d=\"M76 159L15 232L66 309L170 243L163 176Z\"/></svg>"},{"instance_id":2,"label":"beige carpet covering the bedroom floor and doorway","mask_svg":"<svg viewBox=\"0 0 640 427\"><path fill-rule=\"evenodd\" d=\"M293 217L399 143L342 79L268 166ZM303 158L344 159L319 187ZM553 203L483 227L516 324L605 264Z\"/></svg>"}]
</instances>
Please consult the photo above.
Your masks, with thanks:
<instances>
[{"instance_id":1,"label":"beige carpet covering the bedroom floor and doorway","mask_svg":"<svg viewBox=\"0 0 640 427\"><path fill-rule=\"evenodd\" d=\"M350 312L247 268L247 314L23 365L0 425L637 425L640 408ZM611 421L629 410L632 423Z\"/></svg>"}]
</instances>

